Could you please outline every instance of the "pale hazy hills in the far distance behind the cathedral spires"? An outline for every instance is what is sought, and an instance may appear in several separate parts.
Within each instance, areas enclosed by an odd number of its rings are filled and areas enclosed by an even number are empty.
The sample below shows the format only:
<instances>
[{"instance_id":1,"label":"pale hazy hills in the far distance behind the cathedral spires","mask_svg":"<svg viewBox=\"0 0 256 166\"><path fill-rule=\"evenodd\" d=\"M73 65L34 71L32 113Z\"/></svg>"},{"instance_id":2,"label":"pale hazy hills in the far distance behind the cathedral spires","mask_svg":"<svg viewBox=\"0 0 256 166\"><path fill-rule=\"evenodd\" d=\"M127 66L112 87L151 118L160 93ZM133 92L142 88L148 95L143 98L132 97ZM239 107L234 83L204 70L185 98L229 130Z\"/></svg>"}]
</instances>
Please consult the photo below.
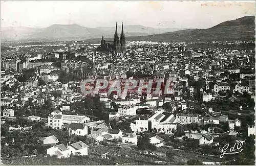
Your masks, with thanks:
<instances>
[{"instance_id":1,"label":"pale hazy hills in the far distance behind the cathedral spires","mask_svg":"<svg viewBox=\"0 0 256 166\"><path fill-rule=\"evenodd\" d=\"M155 29L144 26L124 26L125 36L144 36L173 32L181 29ZM121 26L118 26L121 32ZM77 24L52 25L47 28L6 27L1 29L2 41L9 40L85 40L90 38L113 38L115 27L87 28Z\"/></svg>"}]
</instances>

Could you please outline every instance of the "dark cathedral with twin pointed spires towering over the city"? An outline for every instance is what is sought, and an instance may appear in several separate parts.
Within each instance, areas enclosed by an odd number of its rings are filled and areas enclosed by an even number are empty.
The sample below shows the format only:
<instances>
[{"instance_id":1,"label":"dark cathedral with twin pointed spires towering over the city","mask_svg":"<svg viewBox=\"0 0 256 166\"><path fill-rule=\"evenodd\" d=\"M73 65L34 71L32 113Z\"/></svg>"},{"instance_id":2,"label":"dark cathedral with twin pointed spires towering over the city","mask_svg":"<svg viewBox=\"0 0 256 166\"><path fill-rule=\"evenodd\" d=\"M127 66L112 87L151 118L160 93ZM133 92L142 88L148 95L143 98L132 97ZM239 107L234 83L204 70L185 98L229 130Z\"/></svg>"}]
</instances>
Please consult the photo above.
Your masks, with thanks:
<instances>
[{"instance_id":1,"label":"dark cathedral with twin pointed spires towering over the city","mask_svg":"<svg viewBox=\"0 0 256 166\"><path fill-rule=\"evenodd\" d=\"M117 33L117 23L116 23L116 32L114 35L114 41L113 42L106 42L102 36L101 38L101 44L97 48L97 51L99 52L111 52L112 54L117 53L124 53L125 52L125 37L123 33L123 24L122 24L122 32L120 34L120 37Z\"/></svg>"}]
</instances>

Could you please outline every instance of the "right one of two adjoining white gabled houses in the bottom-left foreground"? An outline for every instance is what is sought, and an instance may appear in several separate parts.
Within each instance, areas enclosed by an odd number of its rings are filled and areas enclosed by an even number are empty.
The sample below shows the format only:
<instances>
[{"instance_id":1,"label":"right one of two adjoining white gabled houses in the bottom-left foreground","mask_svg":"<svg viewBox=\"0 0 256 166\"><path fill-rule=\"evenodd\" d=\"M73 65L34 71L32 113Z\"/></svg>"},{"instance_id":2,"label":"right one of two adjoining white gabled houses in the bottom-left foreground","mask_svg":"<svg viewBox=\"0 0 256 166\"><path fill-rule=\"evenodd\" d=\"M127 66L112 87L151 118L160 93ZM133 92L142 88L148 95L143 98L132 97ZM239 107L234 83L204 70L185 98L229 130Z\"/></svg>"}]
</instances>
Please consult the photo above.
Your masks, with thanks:
<instances>
[{"instance_id":1,"label":"right one of two adjoining white gabled houses in the bottom-left foreground","mask_svg":"<svg viewBox=\"0 0 256 166\"><path fill-rule=\"evenodd\" d=\"M68 146L71 153L75 156L87 156L88 155L88 145L84 144L82 141L71 144Z\"/></svg>"}]
</instances>

